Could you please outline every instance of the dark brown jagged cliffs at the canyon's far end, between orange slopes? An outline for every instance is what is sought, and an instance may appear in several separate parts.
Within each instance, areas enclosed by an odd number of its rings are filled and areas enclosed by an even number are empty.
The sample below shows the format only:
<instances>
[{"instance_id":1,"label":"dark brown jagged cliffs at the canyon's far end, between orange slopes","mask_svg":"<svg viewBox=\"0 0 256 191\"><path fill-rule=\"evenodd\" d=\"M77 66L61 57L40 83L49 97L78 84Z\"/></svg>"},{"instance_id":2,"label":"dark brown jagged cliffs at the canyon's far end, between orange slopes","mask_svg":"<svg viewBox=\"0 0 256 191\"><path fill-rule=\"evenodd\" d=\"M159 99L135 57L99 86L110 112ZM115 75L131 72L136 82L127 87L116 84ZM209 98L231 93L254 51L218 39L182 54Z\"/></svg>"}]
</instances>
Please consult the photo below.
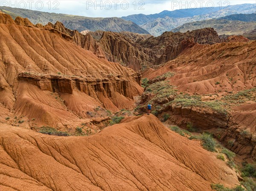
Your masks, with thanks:
<instances>
[{"instance_id":1,"label":"dark brown jagged cliffs at the canyon's far end, between orange slopes","mask_svg":"<svg viewBox=\"0 0 256 191\"><path fill-rule=\"evenodd\" d=\"M214 44L221 40L214 29L200 29L186 33L165 32L160 37L142 34L90 32L98 40L108 60L140 70L175 59L195 43Z\"/></svg>"}]
</instances>

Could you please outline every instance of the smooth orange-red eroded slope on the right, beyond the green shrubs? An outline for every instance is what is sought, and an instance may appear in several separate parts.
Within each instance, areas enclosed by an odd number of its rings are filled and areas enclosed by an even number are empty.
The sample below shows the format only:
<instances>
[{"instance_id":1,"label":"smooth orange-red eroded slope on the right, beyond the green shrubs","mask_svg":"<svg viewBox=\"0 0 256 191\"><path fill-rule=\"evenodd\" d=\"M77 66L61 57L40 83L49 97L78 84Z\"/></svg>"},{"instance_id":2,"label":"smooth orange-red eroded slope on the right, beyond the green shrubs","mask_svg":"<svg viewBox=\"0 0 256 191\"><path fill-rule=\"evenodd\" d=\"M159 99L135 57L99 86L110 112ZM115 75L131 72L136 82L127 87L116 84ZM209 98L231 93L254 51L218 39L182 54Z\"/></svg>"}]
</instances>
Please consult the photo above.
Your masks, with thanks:
<instances>
[{"instance_id":1,"label":"smooth orange-red eroded slope on the right, beyond the green shrubs","mask_svg":"<svg viewBox=\"0 0 256 191\"><path fill-rule=\"evenodd\" d=\"M256 86L255 55L256 41L195 44L157 70L145 71L143 77L153 79L172 71L175 76L167 80L180 91L197 94L241 91Z\"/></svg>"}]
</instances>

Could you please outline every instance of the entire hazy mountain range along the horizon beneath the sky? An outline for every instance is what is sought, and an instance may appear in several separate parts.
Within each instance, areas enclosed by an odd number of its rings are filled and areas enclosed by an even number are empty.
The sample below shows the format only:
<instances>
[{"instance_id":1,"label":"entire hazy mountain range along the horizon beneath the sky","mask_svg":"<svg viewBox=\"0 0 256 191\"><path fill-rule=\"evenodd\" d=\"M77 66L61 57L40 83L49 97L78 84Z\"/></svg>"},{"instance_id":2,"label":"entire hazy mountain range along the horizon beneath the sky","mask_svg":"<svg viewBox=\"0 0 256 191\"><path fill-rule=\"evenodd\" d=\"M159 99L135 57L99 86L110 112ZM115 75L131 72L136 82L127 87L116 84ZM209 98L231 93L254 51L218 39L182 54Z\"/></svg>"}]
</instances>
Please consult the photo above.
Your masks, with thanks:
<instances>
[{"instance_id":1,"label":"entire hazy mountain range along the horizon beneath the sky","mask_svg":"<svg viewBox=\"0 0 256 191\"><path fill-rule=\"evenodd\" d=\"M219 34L243 34L253 31L256 22L256 4L232 5L228 8L214 7L162 11L158 14L133 14L126 17L93 18L68 14L47 13L27 9L1 7L1 11L15 17L27 17L33 24L43 25L60 21L65 27L81 31L129 31L160 36L165 31L187 31L213 27ZM233 15L233 16L230 16ZM215 19L215 20L211 20ZM216 19L221 19L216 20ZM210 20L210 21L208 21ZM227 21L229 20L229 21ZM201 21L199 23L194 23ZM241 21L241 22L238 22ZM244 23L243 23L244 22ZM246 23L245 23L246 22ZM190 24L187 24L190 23ZM226 29L221 29L224 25ZM235 26L238 26L236 28ZM243 29L244 26L244 29Z\"/></svg>"}]
</instances>

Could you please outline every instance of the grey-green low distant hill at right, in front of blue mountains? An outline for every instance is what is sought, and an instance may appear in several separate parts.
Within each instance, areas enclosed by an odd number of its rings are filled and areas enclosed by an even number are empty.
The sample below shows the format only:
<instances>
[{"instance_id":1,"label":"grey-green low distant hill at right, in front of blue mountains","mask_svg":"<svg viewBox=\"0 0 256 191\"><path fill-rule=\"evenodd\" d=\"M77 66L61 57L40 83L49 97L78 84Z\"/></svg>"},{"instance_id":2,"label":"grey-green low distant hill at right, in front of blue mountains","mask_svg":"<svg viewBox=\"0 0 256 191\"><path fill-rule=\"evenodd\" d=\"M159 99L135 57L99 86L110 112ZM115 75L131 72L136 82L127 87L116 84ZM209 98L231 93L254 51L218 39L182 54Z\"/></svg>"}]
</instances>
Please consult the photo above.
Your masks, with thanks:
<instances>
[{"instance_id":1,"label":"grey-green low distant hill at right, in front of blue mountains","mask_svg":"<svg viewBox=\"0 0 256 191\"><path fill-rule=\"evenodd\" d=\"M196 29L204 29L212 27L215 31L221 34L228 35L241 35L245 32L250 32L256 27L255 22L243 22L240 20L224 20L224 19L210 19L210 20L201 20L192 23L185 23L180 27L173 29L173 32L186 32Z\"/></svg>"}]
</instances>

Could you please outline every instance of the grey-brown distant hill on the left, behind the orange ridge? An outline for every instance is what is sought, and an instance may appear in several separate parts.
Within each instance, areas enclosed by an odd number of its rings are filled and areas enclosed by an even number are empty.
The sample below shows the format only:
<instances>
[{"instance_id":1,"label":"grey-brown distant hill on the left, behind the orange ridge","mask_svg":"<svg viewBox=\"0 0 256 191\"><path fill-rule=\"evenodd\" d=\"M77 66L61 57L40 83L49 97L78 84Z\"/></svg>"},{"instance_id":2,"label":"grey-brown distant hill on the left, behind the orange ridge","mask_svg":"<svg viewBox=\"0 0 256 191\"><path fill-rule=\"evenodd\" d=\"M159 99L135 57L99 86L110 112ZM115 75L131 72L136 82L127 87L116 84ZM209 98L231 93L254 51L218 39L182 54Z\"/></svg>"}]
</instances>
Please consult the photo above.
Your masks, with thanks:
<instances>
[{"instance_id":1,"label":"grey-brown distant hill on the left, behind the orange ridge","mask_svg":"<svg viewBox=\"0 0 256 191\"><path fill-rule=\"evenodd\" d=\"M78 31L129 31L139 34L149 34L148 31L142 29L137 24L123 20L117 17L111 18L92 18L82 17L69 14L56 14L42 11L33 11L28 9L17 9L11 7L2 6L0 9L2 12L7 13L15 19L17 16L28 18L33 24L41 23L46 25L48 22L56 23L60 21L65 27L78 30Z\"/></svg>"}]
</instances>

